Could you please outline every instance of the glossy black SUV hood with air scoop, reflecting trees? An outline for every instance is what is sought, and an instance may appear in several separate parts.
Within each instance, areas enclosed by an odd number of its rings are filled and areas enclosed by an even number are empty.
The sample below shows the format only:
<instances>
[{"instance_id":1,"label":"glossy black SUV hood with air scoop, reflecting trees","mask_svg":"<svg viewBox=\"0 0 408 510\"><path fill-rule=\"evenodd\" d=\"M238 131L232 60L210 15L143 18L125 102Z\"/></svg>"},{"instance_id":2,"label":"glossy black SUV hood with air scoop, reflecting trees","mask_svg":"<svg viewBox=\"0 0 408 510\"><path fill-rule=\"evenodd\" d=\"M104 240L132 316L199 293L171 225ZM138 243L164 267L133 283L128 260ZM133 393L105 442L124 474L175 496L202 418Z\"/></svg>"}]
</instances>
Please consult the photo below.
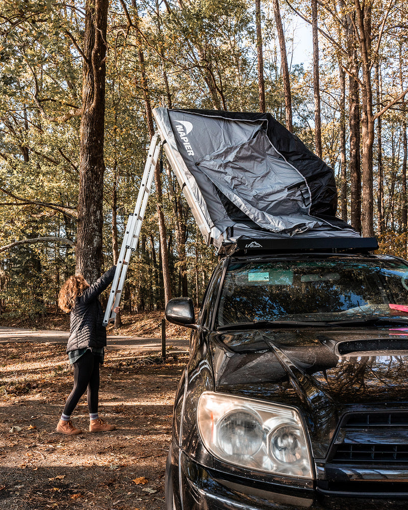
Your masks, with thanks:
<instances>
[{"instance_id":1,"label":"glossy black SUV hood with air scoop, reflecting trees","mask_svg":"<svg viewBox=\"0 0 408 510\"><path fill-rule=\"evenodd\" d=\"M209 336L216 391L297 407L323 458L346 412L406 409L408 329L249 330Z\"/></svg>"}]
</instances>

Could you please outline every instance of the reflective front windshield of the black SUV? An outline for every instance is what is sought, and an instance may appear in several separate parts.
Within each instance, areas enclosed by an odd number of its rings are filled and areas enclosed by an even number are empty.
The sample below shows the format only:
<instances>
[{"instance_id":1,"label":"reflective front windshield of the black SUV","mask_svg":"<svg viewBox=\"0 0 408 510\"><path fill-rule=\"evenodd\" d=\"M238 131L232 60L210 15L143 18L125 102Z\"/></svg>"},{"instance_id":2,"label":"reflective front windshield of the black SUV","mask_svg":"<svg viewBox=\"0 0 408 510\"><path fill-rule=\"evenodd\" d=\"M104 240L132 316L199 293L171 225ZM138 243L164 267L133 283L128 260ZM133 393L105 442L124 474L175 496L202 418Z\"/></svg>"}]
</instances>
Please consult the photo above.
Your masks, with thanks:
<instances>
[{"instance_id":1,"label":"reflective front windshield of the black SUV","mask_svg":"<svg viewBox=\"0 0 408 510\"><path fill-rule=\"evenodd\" d=\"M251 321L408 319L408 265L392 257L233 262L218 326Z\"/></svg>"}]
</instances>

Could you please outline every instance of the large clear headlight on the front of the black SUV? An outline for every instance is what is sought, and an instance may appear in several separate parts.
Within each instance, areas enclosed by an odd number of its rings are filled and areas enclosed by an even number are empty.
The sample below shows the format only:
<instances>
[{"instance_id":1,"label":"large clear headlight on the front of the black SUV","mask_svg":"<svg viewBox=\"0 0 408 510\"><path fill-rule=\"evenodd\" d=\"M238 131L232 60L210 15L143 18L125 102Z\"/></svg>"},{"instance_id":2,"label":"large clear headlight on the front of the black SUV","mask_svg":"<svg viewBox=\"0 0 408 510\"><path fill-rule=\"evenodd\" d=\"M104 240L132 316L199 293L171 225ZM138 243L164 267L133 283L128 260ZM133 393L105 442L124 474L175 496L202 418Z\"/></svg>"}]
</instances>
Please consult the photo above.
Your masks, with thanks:
<instances>
[{"instance_id":1,"label":"large clear headlight on the front of the black SUV","mask_svg":"<svg viewBox=\"0 0 408 510\"><path fill-rule=\"evenodd\" d=\"M205 392L198 401L197 424L203 444L221 461L313 478L303 425L292 407Z\"/></svg>"}]
</instances>

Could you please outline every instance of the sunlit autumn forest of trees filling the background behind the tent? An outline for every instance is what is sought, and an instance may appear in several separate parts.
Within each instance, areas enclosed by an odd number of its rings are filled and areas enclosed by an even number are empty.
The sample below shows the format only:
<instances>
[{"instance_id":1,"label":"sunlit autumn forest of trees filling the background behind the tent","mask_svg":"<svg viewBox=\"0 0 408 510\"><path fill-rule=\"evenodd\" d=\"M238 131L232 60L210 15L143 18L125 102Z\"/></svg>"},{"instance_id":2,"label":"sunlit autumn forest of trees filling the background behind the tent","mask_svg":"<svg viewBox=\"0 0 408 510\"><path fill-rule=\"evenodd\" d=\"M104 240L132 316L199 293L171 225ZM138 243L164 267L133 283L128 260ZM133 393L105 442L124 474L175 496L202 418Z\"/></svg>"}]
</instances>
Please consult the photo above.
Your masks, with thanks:
<instances>
[{"instance_id":1,"label":"sunlit autumn forest of trees filling the background behind the tent","mask_svg":"<svg viewBox=\"0 0 408 510\"><path fill-rule=\"evenodd\" d=\"M338 216L406 257L407 71L403 0L1 0L0 314L56 312L67 276L117 260L157 106L271 113L334 169ZM155 182L122 297L133 312L199 304L216 261L165 158ZM81 259L98 188L101 258Z\"/></svg>"}]
</instances>

